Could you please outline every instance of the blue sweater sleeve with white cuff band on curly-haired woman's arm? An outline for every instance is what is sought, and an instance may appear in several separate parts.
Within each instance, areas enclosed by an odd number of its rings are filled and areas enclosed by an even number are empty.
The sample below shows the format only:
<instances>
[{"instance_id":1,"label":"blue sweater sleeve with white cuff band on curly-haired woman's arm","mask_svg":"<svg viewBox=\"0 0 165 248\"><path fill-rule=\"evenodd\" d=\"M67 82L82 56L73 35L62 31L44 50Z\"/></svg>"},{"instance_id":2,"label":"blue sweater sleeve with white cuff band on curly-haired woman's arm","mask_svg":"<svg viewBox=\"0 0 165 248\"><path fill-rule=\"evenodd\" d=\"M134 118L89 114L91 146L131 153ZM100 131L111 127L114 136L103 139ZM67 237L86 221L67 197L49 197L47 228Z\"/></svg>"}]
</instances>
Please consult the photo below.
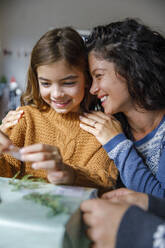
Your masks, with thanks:
<instances>
[{"instance_id":1,"label":"blue sweater sleeve with white cuff band on curly-haired woman's arm","mask_svg":"<svg viewBox=\"0 0 165 248\"><path fill-rule=\"evenodd\" d=\"M114 160L122 182L129 189L165 197L165 151L154 176L136 152L133 142L119 134L104 145L109 157ZM163 174L163 176L161 176Z\"/></svg>"}]
</instances>

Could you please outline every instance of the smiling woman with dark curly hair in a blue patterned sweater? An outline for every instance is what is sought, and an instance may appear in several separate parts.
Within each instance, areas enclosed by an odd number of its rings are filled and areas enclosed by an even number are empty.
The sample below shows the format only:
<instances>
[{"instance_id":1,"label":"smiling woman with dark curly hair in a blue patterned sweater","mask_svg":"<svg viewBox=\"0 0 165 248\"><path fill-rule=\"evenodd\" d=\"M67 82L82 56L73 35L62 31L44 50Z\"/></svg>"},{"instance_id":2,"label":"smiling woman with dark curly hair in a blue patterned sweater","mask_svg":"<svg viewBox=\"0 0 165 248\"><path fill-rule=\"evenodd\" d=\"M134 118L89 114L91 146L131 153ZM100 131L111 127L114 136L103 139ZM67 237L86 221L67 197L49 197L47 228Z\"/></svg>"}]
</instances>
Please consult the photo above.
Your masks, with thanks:
<instances>
[{"instance_id":1,"label":"smiling woman with dark curly hair in a blue patterned sweater","mask_svg":"<svg viewBox=\"0 0 165 248\"><path fill-rule=\"evenodd\" d=\"M90 92L105 114L81 116L81 127L103 145L126 187L165 197L165 38L126 19L94 28L87 49Z\"/></svg>"}]
</instances>

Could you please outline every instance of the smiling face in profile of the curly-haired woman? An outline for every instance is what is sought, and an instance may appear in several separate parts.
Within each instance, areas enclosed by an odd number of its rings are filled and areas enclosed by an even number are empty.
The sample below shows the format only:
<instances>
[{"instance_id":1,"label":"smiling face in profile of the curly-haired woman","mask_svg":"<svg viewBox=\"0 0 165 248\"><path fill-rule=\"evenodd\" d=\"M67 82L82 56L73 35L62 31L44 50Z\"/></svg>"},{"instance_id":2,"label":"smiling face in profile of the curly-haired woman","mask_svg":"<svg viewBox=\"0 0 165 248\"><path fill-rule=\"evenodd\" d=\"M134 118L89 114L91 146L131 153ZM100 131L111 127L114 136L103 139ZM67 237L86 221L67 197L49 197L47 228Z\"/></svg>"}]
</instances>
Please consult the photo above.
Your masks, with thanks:
<instances>
[{"instance_id":1,"label":"smiling face in profile of the curly-haired woman","mask_svg":"<svg viewBox=\"0 0 165 248\"><path fill-rule=\"evenodd\" d=\"M106 114L127 112L132 106L126 80L115 72L112 62L89 54L90 73L93 78L90 92L101 100Z\"/></svg>"}]
</instances>

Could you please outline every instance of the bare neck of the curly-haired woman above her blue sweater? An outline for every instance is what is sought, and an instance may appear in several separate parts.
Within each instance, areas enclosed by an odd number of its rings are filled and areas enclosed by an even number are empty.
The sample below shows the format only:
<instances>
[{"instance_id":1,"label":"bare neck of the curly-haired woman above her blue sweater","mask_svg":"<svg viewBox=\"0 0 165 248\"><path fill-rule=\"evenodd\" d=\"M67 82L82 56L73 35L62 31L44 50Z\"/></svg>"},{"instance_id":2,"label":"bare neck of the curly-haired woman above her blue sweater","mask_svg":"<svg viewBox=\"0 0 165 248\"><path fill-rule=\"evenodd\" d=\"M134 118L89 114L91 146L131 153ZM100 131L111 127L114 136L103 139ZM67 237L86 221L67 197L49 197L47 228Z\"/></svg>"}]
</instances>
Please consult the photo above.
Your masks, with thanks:
<instances>
[{"instance_id":1,"label":"bare neck of the curly-haired woman above her blue sweater","mask_svg":"<svg viewBox=\"0 0 165 248\"><path fill-rule=\"evenodd\" d=\"M137 111L125 113L134 140L140 140L152 132L161 122L165 111Z\"/></svg>"}]
</instances>

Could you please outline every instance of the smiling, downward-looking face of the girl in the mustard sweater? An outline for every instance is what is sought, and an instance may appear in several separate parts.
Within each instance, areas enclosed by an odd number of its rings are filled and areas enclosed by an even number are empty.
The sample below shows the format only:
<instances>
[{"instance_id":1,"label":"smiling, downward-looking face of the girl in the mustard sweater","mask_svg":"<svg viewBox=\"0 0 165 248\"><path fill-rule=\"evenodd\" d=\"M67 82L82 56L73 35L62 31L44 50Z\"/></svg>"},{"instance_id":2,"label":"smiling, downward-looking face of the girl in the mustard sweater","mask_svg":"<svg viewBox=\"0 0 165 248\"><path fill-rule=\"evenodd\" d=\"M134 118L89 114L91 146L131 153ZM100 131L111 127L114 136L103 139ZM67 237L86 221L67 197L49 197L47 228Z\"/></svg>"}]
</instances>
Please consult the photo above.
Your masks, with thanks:
<instances>
[{"instance_id":1,"label":"smiling, downward-looking face of the girl in the mustard sweater","mask_svg":"<svg viewBox=\"0 0 165 248\"><path fill-rule=\"evenodd\" d=\"M65 60L37 68L42 99L58 113L78 112L84 98L85 77Z\"/></svg>"}]
</instances>

